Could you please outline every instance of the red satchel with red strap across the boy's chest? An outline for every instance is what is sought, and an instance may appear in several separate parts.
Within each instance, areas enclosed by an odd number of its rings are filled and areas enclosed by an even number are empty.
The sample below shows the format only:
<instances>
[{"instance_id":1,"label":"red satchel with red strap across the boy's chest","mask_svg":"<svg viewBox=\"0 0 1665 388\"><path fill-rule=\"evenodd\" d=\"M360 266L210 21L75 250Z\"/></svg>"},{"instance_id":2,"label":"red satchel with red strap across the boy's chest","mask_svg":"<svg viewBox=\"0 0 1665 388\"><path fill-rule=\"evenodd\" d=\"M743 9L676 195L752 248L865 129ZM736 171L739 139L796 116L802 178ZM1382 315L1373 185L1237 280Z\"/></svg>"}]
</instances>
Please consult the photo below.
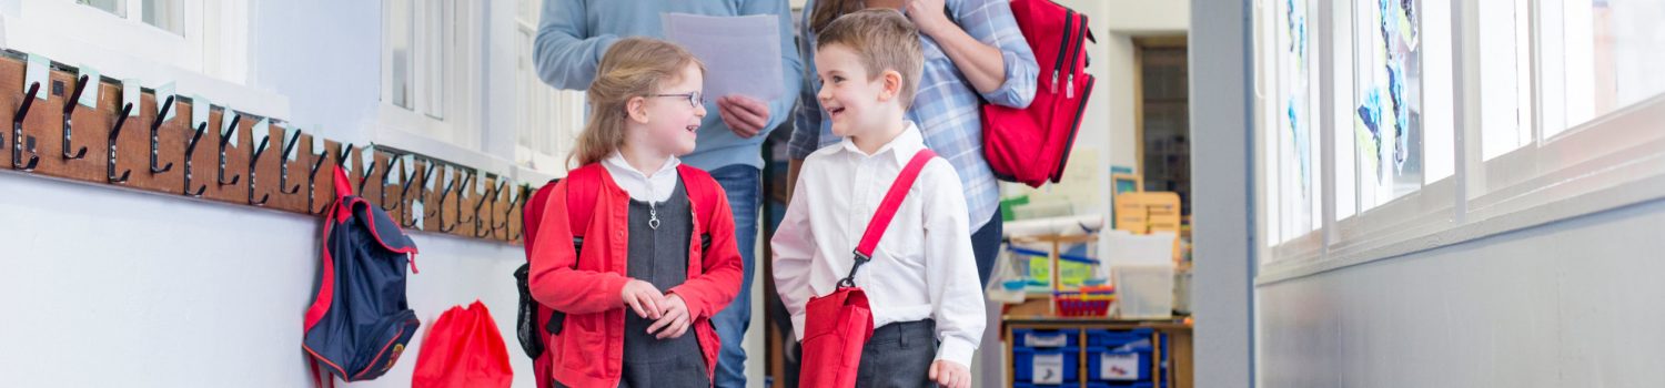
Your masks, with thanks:
<instances>
[{"instance_id":1,"label":"red satchel with red strap across the boy's chest","mask_svg":"<svg viewBox=\"0 0 1665 388\"><path fill-rule=\"evenodd\" d=\"M926 162L936 153L919 150L902 173L896 175L891 190L884 193L884 201L867 221L867 230L856 245L856 265L849 268L849 276L837 281L837 291L809 298L804 306L804 356L803 370L798 373L798 385L804 388L846 388L856 386L856 371L861 366L861 348L872 338L872 308L867 306L867 293L856 286L856 270L872 260L872 248L884 236L884 228L896 216L896 208L907 198L907 188L919 178Z\"/></svg>"}]
</instances>

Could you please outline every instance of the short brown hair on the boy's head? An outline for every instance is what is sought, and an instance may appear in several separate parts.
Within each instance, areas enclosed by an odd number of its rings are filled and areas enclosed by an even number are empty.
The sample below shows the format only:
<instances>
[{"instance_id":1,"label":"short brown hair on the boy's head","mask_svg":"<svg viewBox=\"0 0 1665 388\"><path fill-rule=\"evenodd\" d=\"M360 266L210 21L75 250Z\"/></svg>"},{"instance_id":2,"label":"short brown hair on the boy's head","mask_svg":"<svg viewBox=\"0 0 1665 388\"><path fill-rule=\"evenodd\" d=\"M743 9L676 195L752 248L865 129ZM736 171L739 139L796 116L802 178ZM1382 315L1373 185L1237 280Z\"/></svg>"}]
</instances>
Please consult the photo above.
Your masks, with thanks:
<instances>
[{"instance_id":1,"label":"short brown hair on the boy's head","mask_svg":"<svg viewBox=\"0 0 1665 388\"><path fill-rule=\"evenodd\" d=\"M837 17L816 35L816 48L842 45L861 57L867 80L879 78L884 70L902 75L902 90L896 95L902 108L912 107L924 73L924 48L919 45L919 28L897 10L867 8Z\"/></svg>"}]
</instances>

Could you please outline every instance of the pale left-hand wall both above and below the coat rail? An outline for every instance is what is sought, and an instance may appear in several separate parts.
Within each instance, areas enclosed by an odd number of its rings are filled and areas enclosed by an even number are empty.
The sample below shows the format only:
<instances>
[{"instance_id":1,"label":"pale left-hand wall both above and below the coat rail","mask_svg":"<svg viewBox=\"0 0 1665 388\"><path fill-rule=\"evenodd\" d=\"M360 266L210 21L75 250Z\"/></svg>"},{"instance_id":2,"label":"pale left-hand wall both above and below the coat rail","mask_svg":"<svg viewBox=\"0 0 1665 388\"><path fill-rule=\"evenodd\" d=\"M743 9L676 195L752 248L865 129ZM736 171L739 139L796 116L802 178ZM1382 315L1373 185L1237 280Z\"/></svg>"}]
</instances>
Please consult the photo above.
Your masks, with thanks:
<instances>
[{"instance_id":1,"label":"pale left-hand wall both above and below the coat rail","mask_svg":"<svg viewBox=\"0 0 1665 388\"><path fill-rule=\"evenodd\" d=\"M251 2L248 80L230 87L276 97L276 107L293 108L278 115L310 132L376 140L380 7ZM18 8L0 3L8 20ZM513 75L513 62L488 63ZM509 112L511 87L490 92ZM0 173L0 385L310 386L300 343L318 270L316 220L12 172ZM516 385L533 386L514 338L511 275L523 250L430 233L415 240L421 273L410 276L408 296L423 331L388 375L353 386L410 386L426 328L476 298L493 311Z\"/></svg>"}]
</instances>

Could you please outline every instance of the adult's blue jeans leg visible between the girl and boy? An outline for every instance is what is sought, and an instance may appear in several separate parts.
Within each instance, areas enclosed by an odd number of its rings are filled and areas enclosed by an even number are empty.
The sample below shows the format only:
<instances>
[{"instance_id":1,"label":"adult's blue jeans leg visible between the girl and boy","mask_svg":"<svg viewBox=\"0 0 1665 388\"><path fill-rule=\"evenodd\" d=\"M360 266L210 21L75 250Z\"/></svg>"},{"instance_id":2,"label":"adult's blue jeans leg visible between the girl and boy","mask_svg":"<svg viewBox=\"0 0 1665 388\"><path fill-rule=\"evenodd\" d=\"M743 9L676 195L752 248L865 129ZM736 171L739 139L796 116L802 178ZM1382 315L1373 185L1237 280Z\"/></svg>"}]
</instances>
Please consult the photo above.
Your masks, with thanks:
<instances>
[{"instance_id":1,"label":"adult's blue jeans leg visible between the girl and boy","mask_svg":"<svg viewBox=\"0 0 1665 388\"><path fill-rule=\"evenodd\" d=\"M758 266L753 256L758 250L758 196L763 192L763 177L756 167L731 165L711 170L711 178L716 178L723 192L728 192L729 208L734 211L734 241L739 245L741 266L744 266L739 295L728 308L711 316L711 325L716 326L718 336L723 340L714 385L741 388L746 386L746 350L741 348L741 340L746 338L746 326L751 325L751 276Z\"/></svg>"}]
</instances>

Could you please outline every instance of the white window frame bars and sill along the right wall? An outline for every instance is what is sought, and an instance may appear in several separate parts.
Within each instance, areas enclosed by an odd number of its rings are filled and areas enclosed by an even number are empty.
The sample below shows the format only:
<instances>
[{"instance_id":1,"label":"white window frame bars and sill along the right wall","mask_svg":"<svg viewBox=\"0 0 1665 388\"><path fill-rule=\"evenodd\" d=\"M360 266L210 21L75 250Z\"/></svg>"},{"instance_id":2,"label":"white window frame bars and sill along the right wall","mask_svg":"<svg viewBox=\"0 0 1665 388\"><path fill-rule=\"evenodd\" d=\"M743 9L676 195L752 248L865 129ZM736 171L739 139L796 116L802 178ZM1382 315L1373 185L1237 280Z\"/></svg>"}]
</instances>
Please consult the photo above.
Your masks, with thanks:
<instances>
[{"instance_id":1,"label":"white window frame bars and sill along the right wall","mask_svg":"<svg viewBox=\"0 0 1665 388\"><path fill-rule=\"evenodd\" d=\"M1538 115L1538 112L1543 112L1547 100L1553 103L1552 98L1542 95L1543 88L1540 87L1545 82L1542 60L1547 57L1540 50L1543 43L1542 35L1545 33L1542 28L1528 28L1532 33L1527 47L1532 58L1528 65L1532 85L1522 85L1528 90L1525 93L1530 93L1528 100L1533 112L1530 115L1532 140L1495 158L1484 158L1479 115L1479 75L1482 72L1477 53L1479 2L1487 0L1459 0L1449 3L1452 7L1452 103L1455 107L1450 112L1452 125L1455 127L1452 133L1455 138L1450 142L1450 150L1454 152L1452 175L1435 182L1424 180L1420 190L1352 216L1337 218L1339 211L1335 208L1335 173L1340 172L1337 168L1349 168L1337 165L1335 153L1340 147L1335 137L1350 137L1352 133L1350 120L1345 120L1345 127L1342 127L1344 120L1337 120L1340 110L1335 110L1335 105L1342 102L1352 105L1352 80L1342 78L1352 77L1352 65L1347 57L1320 57L1322 80L1319 85L1314 85L1314 90L1319 92L1315 95L1319 95L1320 105L1324 105L1320 108L1324 118L1319 120L1324 125L1324 140L1319 140L1324 145L1324 223L1314 233L1284 243L1275 240L1277 235L1272 235L1275 233L1272 228L1279 228L1277 221L1289 215L1275 213L1277 190L1270 185L1275 185L1279 180L1279 172L1275 167L1277 162L1267 158L1275 150L1274 147L1277 147L1267 132L1282 130L1282 127L1267 117L1274 113L1272 110L1275 110L1277 102L1262 93L1265 88L1262 83L1275 82L1264 78L1275 75L1267 70L1255 72L1254 85L1259 103L1255 120L1260 130L1254 132L1254 152L1257 160L1267 162L1267 165L1255 168L1257 182L1254 185L1254 190L1260 193L1257 195L1255 206L1265 215L1260 216L1262 221L1257 225L1262 233L1255 233L1259 240L1257 246L1262 251L1262 260L1257 263L1259 273L1255 283L1269 285L1310 276L1350 265L1395 258L1665 198L1665 130L1662 130L1665 127L1662 125L1665 123L1665 93L1630 105L1620 105L1613 112L1595 115L1593 120L1572 125L1553 137L1542 135L1545 123L1543 115ZM1543 23L1538 20L1540 13L1535 12L1542 5L1542 0L1523 2L1533 7L1533 13L1530 15L1533 27ZM1265 2L1257 2L1257 5L1260 3ZM1427 3L1440 5L1439 2L1419 2L1419 5ZM1317 37L1312 42L1315 45L1314 52L1345 52L1344 45L1330 42L1329 37L1347 37L1337 40L1350 40L1350 23L1354 20L1350 7L1352 2L1319 2L1319 10L1309 12L1309 15L1325 15L1319 20L1319 25L1322 25L1319 27L1320 30L1349 32L1349 35L1314 33ZM1277 7L1255 7L1254 10L1257 13L1255 22L1277 18L1275 15L1259 15L1277 10ZM1334 28L1337 25L1335 20L1349 22L1344 28ZM1420 17L1419 22L1427 23L1427 18ZM1274 28L1265 28L1265 25ZM1275 68L1267 67L1275 63L1267 57L1272 57L1277 48L1269 47L1269 38L1264 35L1275 33L1275 25L1262 23L1255 32L1254 50L1257 67ZM1422 37L1424 42L1427 38ZM1422 65L1422 80L1427 80L1429 68ZM1342 83L1347 83L1347 87L1339 87ZM1517 93L1520 93L1518 90ZM1424 102L1427 102L1427 97L1424 97ZM1429 128L1427 122L1424 122L1424 133L1427 133L1425 128ZM1424 138L1424 145L1427 145L1427 138ZM1429 148L1424 148L1422 155L1427 158ZM1357 157L1354 155L1354 158ZM1357 162L1352 168L1357 173ZM1424 172L1427 173L1427 167L1424 167ZM1357 182L1354 187L1359 187Z\"/></svg>"}]
</instances>

